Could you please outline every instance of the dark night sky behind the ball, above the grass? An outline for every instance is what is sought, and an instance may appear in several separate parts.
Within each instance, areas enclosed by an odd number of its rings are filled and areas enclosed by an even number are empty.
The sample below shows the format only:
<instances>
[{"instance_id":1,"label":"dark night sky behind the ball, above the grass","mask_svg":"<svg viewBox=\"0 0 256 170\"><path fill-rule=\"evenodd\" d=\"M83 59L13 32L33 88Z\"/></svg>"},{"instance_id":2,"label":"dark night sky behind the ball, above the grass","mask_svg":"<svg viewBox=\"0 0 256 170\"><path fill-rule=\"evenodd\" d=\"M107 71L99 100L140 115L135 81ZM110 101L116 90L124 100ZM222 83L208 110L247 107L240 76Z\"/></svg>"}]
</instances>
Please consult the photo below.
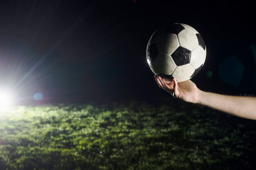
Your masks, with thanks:
<instances>
[{"instance_id":1,"label":"dark night sky behind the ball, above the grass","mask_svg":"<svg viewBox=\"0 0 256 170\"><path fill-rule=\"evenodd\" d=\"M193 26L207 46L200 89L255 94L256 12L251 3L215 1L4 1L0 6L0 85L20 103L165 98L146 63L159 27ZM218 65L235 55L245 66L238 87L220 81ZM206 76L211 70L213 76Z\"/></svg>"}]
</instances>

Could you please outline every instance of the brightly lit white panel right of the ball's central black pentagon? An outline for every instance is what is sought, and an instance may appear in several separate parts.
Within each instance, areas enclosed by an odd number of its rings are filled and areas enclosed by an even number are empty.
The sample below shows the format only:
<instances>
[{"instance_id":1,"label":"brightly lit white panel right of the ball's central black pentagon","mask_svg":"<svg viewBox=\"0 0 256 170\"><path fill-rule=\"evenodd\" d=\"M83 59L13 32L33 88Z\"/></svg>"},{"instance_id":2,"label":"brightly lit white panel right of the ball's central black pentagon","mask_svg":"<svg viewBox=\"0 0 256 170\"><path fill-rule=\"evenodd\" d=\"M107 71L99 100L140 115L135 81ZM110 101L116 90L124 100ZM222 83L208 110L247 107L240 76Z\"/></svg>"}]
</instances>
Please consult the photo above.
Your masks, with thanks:
<instances>
[{"instance_id":1,"label":"brightly lit white panel right of the ball's central black pentagon","mask_svg":"<svg viewBox=\"0 0 256 170\"><path fill-rule=\"evenodd\" d=\"M199 68L200 65L204 64L206 59L206 52L201 46L197 46L191 51L190 64L195 68Z\"/></svg>"}]
</instances>

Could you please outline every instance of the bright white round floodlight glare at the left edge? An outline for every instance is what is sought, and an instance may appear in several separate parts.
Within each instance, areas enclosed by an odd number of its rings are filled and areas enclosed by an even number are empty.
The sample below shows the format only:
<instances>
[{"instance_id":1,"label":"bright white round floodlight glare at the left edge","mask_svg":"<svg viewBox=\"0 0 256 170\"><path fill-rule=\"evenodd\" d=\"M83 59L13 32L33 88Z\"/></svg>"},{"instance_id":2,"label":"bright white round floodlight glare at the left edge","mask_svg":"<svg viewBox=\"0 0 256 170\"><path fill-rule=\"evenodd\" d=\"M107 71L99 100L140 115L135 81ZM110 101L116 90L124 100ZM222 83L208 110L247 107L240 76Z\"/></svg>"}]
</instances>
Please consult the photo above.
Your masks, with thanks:
<instances>
[{"instance_id":1,"label":"bright white round floodlight glare at the left edge","mask_svg":"<svg viewBox=\"0 0 256 170\"><path fill-rule=\"evenodd\" d=\"M12 94L8 91L0 91L0 111L7 110L12 104Z\"/></svg>"}]
</instances>

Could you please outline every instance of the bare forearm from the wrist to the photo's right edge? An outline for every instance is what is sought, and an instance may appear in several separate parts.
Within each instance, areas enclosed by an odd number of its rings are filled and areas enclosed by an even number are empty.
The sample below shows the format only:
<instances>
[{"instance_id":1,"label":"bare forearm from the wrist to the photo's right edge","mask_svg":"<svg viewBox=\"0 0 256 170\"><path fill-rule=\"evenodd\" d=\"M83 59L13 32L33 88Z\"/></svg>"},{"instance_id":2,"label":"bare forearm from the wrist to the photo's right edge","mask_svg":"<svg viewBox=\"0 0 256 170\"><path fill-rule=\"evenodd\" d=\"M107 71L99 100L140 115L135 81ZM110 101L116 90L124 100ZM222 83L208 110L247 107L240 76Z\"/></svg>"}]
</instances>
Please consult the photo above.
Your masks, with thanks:
<instances>
[{"instance_id":1,"label":"bare forearm from the wrist to the photo's right edge","mask_svg":"<svg viewBox=\"0 0 256 170\"><path fill-rule=\"evenodd\" d=\"M254 97L228 96L200 91L197 103L234 116L256 120L256 98Z\"/></svg>"}]
</instances>

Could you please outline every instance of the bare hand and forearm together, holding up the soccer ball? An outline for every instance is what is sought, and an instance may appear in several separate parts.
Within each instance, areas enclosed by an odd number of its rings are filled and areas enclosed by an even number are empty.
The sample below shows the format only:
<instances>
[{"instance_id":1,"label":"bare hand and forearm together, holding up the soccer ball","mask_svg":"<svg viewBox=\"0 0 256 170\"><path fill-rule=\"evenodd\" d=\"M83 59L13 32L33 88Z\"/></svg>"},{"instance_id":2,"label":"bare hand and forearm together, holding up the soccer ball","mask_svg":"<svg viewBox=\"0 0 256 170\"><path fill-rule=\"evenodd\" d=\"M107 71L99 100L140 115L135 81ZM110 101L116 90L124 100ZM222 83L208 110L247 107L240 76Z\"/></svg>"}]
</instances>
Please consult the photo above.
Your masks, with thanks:
<instances>
[{"instance_id":1,"label":"bare hand and forearm together, holding up the soccer ball","mask_svg":"<svg viewBox=\"0 0 256 170\"><path fill-rule=\"evenodd\" d=\"M204 92L198 89L191 80L177 83L175 78L173 78L173 81L168 81L159 75L155 75L155 80L160 88L171 93L175 98L211 107L241 118L256 120L255 97Z\"/></svg>"}]
</instances>

